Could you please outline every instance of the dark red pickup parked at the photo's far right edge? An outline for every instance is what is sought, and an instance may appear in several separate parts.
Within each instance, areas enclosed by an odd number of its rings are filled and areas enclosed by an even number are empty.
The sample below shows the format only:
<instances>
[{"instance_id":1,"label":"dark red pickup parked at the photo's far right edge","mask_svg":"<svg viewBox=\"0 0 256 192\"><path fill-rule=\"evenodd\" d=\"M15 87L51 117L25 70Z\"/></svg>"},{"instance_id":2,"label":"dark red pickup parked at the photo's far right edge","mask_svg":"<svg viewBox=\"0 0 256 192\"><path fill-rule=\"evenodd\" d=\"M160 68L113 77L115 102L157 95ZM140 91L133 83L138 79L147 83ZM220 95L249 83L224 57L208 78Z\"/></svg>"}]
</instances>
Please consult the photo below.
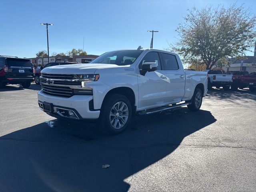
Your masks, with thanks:
<instances>
[{"instance_id":1,"label":"dark red pickup parked at the photo's far right edge","mask_svg":"<svg viewBox=\"0 0 256 192\"><path fill-rule=\"evenodd\" d=\"M256 76L254 76L254 73L249 74L248 71L228 71L225 74L233 75L232 90L235 91L238 88L244 89L246 87L249 87L250 91L256 90Z\"/></svg>"}]
</instances>

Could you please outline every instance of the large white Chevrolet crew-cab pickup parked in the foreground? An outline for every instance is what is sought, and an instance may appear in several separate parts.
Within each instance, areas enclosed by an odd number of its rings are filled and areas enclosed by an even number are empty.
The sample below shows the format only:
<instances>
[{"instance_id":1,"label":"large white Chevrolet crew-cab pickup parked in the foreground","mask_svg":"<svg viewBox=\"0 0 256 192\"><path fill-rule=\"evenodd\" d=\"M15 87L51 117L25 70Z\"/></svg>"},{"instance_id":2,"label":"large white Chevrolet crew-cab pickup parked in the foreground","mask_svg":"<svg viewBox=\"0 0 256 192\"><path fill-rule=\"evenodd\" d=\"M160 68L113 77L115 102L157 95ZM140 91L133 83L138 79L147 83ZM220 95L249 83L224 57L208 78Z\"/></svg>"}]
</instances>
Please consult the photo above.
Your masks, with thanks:
<instances>
[{"instance_id":1,"label":"large white Chevrolet crew-cab pickup parked in the foreground","mask_svg":"<svg viewBox=\"0 0 256 192\"><path fill-rule=\"evenodd\" d=\"M177 54L155 49L106 52L89 64L41 71L39 108L56 118L98 120L118 134L132 116L187 106L197 111L207 92L207 73L184 71Z\"/></svg>"}]
</instances>

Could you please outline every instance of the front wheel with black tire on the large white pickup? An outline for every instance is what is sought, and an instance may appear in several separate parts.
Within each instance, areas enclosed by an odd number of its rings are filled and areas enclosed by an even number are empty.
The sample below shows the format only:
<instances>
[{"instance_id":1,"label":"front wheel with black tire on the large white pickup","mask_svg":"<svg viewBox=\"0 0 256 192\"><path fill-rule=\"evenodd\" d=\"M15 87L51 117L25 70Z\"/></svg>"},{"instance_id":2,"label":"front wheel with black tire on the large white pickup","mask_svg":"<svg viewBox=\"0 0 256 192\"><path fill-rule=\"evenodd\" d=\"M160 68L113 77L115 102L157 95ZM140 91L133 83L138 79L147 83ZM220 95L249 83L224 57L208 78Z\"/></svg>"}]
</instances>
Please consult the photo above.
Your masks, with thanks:
<instances>
[{"instance_id":1,"label":"front wheel with black tire on the large white pickup","mask_svg":"<svg viewBox=\"0 0 256 192\"><path fill-rule=\"evenodd\" d=\"M123 109L121 109L122 104L125 104ZM120 112L119 110L124 111ZM104 103L102 104L102 110L100 112L99 119L99 128L102 132L106 134L120 134L127 128L131 117L132 106L128 98L121 94L110 94L104 99Z\"/></svg>"}]
</instances>

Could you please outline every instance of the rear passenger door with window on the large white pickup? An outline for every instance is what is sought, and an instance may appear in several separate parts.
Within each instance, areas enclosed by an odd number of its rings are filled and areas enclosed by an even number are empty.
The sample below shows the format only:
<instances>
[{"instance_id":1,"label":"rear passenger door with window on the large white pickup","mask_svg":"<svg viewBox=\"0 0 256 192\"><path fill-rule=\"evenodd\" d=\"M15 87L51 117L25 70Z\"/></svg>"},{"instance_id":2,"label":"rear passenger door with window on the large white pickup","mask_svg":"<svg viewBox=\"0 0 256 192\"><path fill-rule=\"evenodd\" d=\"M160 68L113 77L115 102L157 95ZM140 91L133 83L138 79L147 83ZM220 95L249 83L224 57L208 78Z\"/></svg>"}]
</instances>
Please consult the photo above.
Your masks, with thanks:
<instances>
[{"instance_id":1,"label":"rear passenger door with window on the large white pickup","mask_svg":"<svg viewBox=\"0 0 256 192\"><path fill-rule=\"evenodd\" d=\"M161 53L167 76L166 100L178 103L185 94L185 72L173 54Z\"/></svg>"}]
</instances>

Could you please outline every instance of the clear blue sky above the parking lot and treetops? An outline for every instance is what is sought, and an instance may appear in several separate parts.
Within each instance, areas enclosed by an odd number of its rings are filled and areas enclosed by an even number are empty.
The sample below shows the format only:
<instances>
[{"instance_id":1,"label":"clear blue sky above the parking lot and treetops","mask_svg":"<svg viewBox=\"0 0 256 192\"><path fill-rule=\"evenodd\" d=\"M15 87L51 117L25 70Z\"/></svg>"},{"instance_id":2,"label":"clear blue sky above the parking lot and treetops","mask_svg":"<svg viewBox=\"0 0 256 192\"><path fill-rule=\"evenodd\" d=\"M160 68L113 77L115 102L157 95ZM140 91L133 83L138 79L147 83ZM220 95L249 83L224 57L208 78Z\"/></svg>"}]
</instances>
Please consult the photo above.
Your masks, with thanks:
<instances>
[{"instance_id":1,"label":"clear blue sky above the parking lot and treetops","mask_svg":"<svg viewBox=\"0 0 256 192\"><path fill-rule=\"evenodd\" d=\"M168 48L187 9L206 5L244 3L256 12L254 0L2 0L0 11L0 55L32 58L47 50L46 28L52 52L83 48L88 54L150 46ZM253 55L253 53L248 53Z\"/></svg>"}]
</instances>

